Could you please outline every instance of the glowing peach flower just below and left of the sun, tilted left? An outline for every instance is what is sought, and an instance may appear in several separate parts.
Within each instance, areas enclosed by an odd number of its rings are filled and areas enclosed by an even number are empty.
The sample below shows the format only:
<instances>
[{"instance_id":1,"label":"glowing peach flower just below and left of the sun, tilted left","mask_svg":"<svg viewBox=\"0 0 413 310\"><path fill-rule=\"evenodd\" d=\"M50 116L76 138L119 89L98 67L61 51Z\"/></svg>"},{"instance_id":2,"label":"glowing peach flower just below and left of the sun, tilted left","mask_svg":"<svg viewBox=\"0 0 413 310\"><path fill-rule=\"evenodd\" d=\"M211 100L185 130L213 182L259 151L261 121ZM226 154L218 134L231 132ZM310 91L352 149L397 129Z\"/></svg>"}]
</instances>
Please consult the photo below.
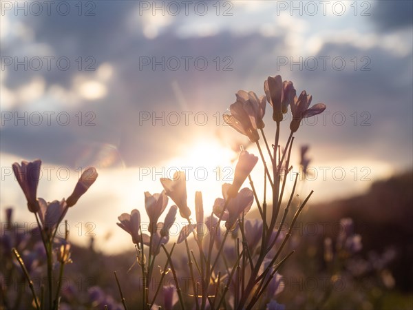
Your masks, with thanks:
<instances>
[{"instance_id":1,"label":"glowing peach flower just below and left of the sun, tilted left","mask_svg":"<svg viewBox=\"0 0 413 310\"><path fill-rule=\"evenodd\" d=\"M167 192L167 195L171 197L174 203L179 208L179 213L182 218L189 218L191 216L191 210L187 205L187 180L185 178L185 172L175 172L173 174L173 180L170 178L161 178L160 183Z\"/></svg>"}]
</instances>

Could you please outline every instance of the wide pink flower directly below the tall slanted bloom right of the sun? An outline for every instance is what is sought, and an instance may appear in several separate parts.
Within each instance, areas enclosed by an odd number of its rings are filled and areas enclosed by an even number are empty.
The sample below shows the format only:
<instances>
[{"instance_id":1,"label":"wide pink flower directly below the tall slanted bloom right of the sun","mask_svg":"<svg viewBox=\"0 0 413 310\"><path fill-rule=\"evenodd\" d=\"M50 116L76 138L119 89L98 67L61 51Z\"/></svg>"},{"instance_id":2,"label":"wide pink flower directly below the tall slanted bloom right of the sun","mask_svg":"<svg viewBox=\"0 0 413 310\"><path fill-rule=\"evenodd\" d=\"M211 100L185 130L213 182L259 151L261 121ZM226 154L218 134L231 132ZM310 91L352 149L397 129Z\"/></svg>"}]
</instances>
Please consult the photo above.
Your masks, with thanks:
<instances>
[{"instance_id":1,"label":"wide pink flower directly below the tall slanted bloom right of the sun","mask_svg":"<svg viewBox=\"0 0 413 310\"><path fill-rule=\"evenodd\" d=\"M224 199L216 198L213 203L213 213L220 217L226 202L226 209L222 215L222 220L226 221L225 227L227 230L233 229L237 218L243 213L246 214L246 212L251 209L251 205L253 205L254 200L253 191L246 187L241 189L235 197L228 199L230 187L231 184L224 183L222 185L222 196L224 196Z\"/></svg>"}]
</instances>

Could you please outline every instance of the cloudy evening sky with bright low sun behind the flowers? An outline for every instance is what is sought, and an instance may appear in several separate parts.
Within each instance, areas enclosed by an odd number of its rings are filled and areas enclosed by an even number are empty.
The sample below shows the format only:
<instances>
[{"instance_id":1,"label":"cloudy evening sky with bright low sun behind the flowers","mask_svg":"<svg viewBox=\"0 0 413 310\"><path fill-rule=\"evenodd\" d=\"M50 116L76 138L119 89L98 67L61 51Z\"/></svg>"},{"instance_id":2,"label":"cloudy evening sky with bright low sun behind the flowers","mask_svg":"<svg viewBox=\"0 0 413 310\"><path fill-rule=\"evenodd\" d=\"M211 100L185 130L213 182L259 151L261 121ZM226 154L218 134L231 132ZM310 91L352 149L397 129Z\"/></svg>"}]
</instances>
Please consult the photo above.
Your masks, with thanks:
<instances>
[{"instance_id":1,"label":"cloudy evening sky with bright low sun behind the flowers","mask_svg":"<svg viewBox=\"0 0 413 310\"><path fill-rule=\"evenodd\" d=\"M200 190L211 210L240 145L258 155L222 115L238 90L261 96L277 74L327 105L295 134L293 172L301 145L312 168L300 194L314 189L313 203L361 194L412 169L412 24L412 1L2 0L2 222L12 206L14 220L34 223L11 165L36 158L48 201L98 169L67 219L73 240L96 234L102 251L131 247L117 216L137 208L145 218L143 193L161 192L159 178L178 169L189 205ZM263 172L252 174L258 185Z\"/></svg>"}]
</instances>

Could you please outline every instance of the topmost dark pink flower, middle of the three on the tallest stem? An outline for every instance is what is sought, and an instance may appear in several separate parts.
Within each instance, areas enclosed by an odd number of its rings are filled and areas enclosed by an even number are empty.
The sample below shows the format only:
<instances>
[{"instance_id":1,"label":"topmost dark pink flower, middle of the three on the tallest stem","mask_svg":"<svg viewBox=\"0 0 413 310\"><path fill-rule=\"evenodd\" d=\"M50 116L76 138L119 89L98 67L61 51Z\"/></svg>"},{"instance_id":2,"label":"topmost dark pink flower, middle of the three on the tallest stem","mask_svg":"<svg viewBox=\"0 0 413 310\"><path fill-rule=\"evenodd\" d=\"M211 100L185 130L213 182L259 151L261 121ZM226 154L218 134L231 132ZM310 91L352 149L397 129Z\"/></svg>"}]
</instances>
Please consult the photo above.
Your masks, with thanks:
<instances>
[{"instance_id":1,"label":"topmost dark pink flower, middle of the three on the tallest stem","mask_svg":"<svg viewBox=\"0 0 413 310\"><path fill-rule=\"evenodd\" d=\"M288 111L288 104L295 96L293 82L283 82L280 75L268 76L264 82L264 92L268 103L273 107L273 120L282 121L282 114Z\"/></svg>"}]
</instances>

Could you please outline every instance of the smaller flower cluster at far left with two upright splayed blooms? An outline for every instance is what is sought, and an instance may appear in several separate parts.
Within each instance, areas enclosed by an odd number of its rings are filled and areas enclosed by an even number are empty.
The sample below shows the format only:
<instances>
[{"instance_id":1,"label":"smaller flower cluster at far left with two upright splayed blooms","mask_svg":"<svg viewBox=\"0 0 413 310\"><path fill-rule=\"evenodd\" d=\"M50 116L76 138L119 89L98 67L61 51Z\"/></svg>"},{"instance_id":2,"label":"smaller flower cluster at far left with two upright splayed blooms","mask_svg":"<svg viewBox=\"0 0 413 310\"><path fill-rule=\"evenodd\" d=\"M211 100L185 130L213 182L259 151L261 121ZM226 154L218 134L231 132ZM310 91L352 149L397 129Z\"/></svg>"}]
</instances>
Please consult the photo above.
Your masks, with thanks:
<instances>
[{"instance_id":1,"label":"smaller flower cluster at far left with two upright splayed blooms","mask_svg":"<svg viewBox=\"0 0 413 310\"><path fill-rule=\"evenodd\" d=\"M28 209L36 217L37 229L40 232L43 243L43 247L37 246L37 249L43 253L43 256L45 256L47 260L47 285L44 284L45 287L47 287L46 298L36 296L33 289L33 282L30 278L30 271L36 266L39 260L35 259L35 255L30 256L30 254L27 253L23 254L26 258L23 260L19 251L15 248L12 249L12 252L16 256L24 276L29 282L33 296L33 304L36 309L40 310L45 308L45 304L47 304L48 309L59 309L63 269L65 264L72 262L72 259L71 246L67 241L67 229L64 239L56 238L56 232L67 210L76 205L78 199L87 192L87 189L89 189L98 177L98 173L94 167L87 167L79 178L78 183L76 183L72 194L70 194L67 199L63 198L60 201L53 200L50 203L46 202L43 198L37 197L37 187L39 185L41 169L41 161L39 159L33 162L22 161L21 165L14 163L12 168L14 176L16 176L27 200ZM11 211L9 212L11 217ZM57 279L53 276L53 269L56 263L60 265L59 278Z\"/></svg>"}]
</instances>

